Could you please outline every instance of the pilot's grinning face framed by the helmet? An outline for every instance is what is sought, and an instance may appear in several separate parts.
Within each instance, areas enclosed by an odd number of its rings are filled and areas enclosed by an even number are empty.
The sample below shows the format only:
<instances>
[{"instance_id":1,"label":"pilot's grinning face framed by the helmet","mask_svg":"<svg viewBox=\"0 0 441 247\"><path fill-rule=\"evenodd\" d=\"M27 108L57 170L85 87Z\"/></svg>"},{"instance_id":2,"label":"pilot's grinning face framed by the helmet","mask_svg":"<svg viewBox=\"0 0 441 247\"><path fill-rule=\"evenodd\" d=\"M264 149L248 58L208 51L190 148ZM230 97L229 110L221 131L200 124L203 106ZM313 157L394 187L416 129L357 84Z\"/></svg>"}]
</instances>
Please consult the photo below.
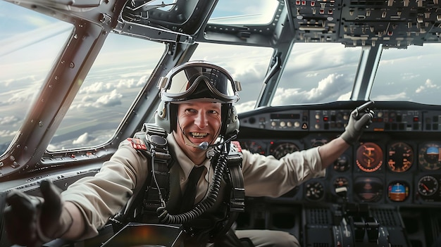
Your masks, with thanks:
<instances>
[{"instance_id":1,"label":"pilot's grinning face framed by the helmet","mask_svg":"<svg viewBox=\"0 0 441 247\"><path fill-rule=\"evenodd\" d=\"M184 151L201 152L201 149L189 146L188 141L196 146L204 141L213 144L218 137L221 120L221 103L198 101L179 104L176 141Z\"/></svg>"}]
</instances>

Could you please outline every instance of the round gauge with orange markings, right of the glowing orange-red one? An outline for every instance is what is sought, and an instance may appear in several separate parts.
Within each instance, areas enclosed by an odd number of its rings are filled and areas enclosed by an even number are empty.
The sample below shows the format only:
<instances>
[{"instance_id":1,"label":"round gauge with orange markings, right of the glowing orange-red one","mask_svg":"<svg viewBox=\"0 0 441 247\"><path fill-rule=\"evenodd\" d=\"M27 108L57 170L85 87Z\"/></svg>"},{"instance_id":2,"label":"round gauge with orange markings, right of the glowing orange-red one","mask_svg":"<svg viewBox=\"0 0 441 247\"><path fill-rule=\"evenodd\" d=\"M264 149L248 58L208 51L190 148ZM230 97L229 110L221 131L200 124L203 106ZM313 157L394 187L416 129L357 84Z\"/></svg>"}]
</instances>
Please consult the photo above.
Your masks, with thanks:
<instances>
[{"instance_id":1,"label":"round gauge with orange markings, right of the glowing orange-red one","mask_svg":"<svg viewBox=\"0 0 441 247\"><path fill-rule=\"evenodd\" d=\"M393 172L406 172L414 163L414 150L404 142L390 145L387 156L387 165Z\"/></svg>"}]
</instances>

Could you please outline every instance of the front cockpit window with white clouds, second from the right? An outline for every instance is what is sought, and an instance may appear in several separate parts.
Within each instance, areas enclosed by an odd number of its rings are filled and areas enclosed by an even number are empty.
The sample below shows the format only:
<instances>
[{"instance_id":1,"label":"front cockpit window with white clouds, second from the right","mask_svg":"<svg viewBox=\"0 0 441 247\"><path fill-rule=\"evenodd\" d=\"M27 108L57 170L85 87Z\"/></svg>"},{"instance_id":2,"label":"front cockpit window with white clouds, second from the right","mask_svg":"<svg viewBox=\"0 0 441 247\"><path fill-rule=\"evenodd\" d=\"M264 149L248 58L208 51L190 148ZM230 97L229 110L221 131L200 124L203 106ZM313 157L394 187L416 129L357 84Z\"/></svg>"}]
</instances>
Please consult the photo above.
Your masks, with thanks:
<instances>
[{"instance_id":1,"label":"front cockpit window with white clouds, second from the right","mask_svg":"<svg viewBox=\"0 0 441 247\"><path fill-rule=\"evenodd\" d=\"M271 106L349 100L360 56L361 47L294 44Z\"/></svg>"}]
</instances>

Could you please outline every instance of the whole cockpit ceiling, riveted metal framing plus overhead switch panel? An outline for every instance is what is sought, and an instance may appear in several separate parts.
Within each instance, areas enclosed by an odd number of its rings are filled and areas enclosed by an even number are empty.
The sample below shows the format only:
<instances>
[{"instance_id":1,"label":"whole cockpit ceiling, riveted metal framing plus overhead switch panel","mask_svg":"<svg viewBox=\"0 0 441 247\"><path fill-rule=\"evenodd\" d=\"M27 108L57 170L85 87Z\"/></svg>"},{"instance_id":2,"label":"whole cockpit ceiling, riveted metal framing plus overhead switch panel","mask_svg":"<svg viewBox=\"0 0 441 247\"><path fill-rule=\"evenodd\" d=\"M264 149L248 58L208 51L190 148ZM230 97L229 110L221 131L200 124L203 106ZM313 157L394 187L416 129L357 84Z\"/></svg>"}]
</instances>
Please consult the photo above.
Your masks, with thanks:
<instances>
[{"instance_id":1,"label":"whole cockpit ceiling, riveted metal framing plus overhead switch panel","mask_svg":"<svg viewBox=\"0 0 441 247\"><path fill-rule=\"evenodd\" d=\"M274 19L267 25L210 23L208 18L213 11L213 2L175 1L165 10L126 6L123 18L131 23L199 37L197 39L205 36L202 39L210 42L216 42L218 38L225 42L225 37L230 37L228 40L232 43L271 46L294 39L295 42L342 43L348 47L383 44L383 48L440 42L441 8L438 0L279 1ZM130 3L136 4L137 1L128 1ZM199 22L195 23L195 20ZM208 24L204 24L207 20ZM286 34L281 37L280 30L286 25L292 30L292 37L286 37ZM209 38L206 38L207 34Z\"/></svg>"}]
</instances>

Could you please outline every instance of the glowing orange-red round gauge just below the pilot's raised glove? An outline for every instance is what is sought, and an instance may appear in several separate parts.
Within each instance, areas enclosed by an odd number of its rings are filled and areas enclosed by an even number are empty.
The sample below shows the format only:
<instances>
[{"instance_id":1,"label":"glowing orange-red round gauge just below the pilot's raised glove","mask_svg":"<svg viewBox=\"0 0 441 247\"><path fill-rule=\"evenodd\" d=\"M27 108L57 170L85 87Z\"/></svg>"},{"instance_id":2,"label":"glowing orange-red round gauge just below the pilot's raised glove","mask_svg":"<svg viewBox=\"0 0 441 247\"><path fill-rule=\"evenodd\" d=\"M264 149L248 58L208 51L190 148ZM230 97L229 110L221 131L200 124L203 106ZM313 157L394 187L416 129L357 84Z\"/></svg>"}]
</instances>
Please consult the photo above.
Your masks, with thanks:
<instances>
[{"instance_id":1,"label":"glowing orange-red round gauge just below the pilot's raised glove","mask_svg":"<svg viewBox=\"0 0 441 247\"><path fill-rule=\"evenodd\" d=\"M383 165L383 150L373 142L366 142L356 150L356 165L364 172L375 172Z\"/></svg>"}]
</instances>

